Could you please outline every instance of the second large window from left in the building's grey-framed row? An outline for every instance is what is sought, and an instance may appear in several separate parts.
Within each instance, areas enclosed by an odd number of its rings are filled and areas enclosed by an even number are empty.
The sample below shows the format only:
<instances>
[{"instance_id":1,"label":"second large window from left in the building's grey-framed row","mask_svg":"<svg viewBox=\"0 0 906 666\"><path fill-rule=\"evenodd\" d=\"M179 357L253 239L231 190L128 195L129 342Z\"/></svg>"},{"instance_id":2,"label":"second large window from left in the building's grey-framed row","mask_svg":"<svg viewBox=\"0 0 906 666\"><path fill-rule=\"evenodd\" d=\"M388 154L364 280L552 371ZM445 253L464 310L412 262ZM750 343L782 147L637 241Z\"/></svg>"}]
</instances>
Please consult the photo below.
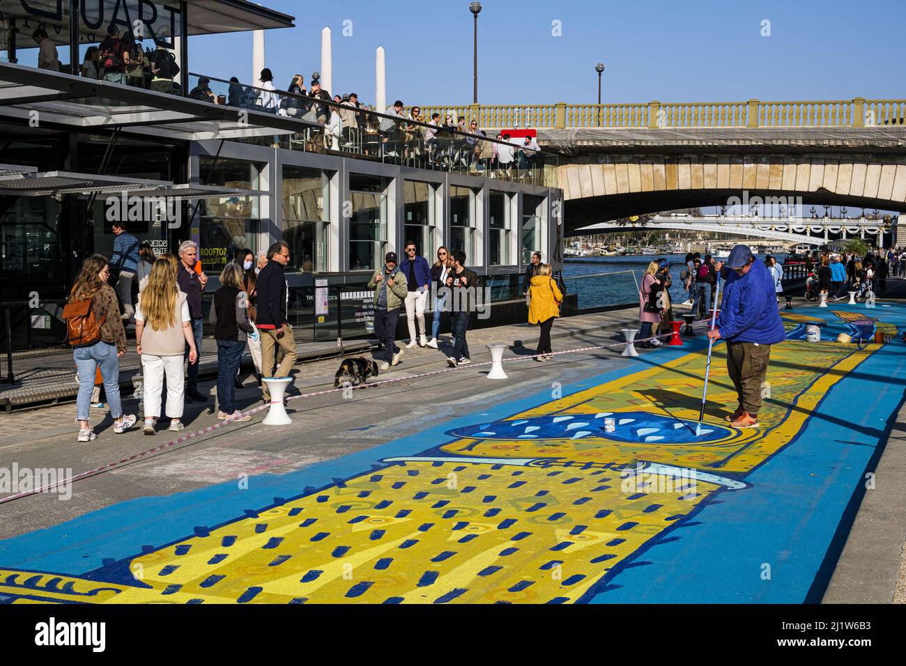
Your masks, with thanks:
<instances>
[{"instance_id":1,"label":"second large window from left in the building's grey-framed row","mask_svg":"<svg viewBox=\"0 0 906 666\"><path fill-rule=\"evenodd\" d=\"M321 169L284 166L283 239L289 265L301 271L327 270L330 236L330 176Z\"/></svg>"}]
</instances>

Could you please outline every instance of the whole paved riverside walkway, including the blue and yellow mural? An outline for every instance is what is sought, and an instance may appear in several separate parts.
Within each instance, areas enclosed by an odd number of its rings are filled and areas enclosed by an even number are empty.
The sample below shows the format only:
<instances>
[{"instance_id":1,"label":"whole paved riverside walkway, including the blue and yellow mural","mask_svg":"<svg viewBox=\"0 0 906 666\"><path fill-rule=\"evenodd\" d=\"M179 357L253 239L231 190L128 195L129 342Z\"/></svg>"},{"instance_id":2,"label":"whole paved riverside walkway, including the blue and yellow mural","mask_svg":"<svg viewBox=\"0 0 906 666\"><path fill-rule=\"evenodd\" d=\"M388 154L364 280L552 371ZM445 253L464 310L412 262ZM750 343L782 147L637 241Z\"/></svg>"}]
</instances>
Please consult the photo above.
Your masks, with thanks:
<instances>
[{"instance_id":1,"label":"whole paved riverside walkway, including the blue and yellow mural","mask_svg":"<svg viewBox=\"0 0 906 666\"><path fill-rule=\"evenodd\" d=\"M375 389L352 409L291 402L296 415L316 419L297 418L264 438L255 422L237 424L190 449L80 482L76 502L30 497L0 507L11 518L0 536L37 530L0 542L0 596L801 603L820 601L825 590L836 601L831 594L858 570L846 565L851 551L872 566L878 590L892 591L902 505L892 510L901 497L882 484L904 484L888 464L893 449L878 458L897 431L906 343L831 341L866 325L902 329L906 306L783 314L789 340L772 352L760 430L731 430L722 420L733 389L718 345L706 428L694 436L700 337L636 360L608 351L559 367L513 362L510 380L499 383L468 366L416 377L442 368L442 354L410 350L387 373L407 381ZM807 343L805 325L816 320L826 342ZM598 331L583 329L590 323ZM561 324L574 337L559 338L555 349L609 339L601 322ZM487 358L478 353L484 340L503 342L503 331L469 334L478 361ZM517 340L535 342L527 327L509 333L510 354L525 346ZM311 374L297 384L332 382L335 364L303 366ZM610 417L615 431L607 434L601 424ZM192 427L210 422L202 414ZM34 468L77 456L80 471L150 446L135 434L101 434L96 446L79 448L69 439L57 445L50 432L43 446L20 433L0 439L0 459ZM250 474L250 486L237 487L236 472ZM899 544L860 541L862 515L847 542L870 472L877 488L865 491L865 506L880 502L886 522L869 528L899 535ZM886 494L872 495L882 487Z\"/></svg>"}]
</instances>

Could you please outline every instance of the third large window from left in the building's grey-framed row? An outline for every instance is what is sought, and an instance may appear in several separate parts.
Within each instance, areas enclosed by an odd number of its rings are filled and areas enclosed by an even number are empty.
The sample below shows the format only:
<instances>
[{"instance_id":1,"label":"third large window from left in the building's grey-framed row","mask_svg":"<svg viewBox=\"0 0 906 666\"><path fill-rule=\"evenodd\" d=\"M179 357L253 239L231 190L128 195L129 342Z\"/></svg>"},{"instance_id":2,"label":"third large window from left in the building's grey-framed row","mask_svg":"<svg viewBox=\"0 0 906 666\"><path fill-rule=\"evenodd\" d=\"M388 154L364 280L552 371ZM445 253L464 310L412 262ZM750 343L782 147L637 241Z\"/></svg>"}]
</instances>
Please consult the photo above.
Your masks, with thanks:
<instances>
[{"instance_id":1,"label":"third large window from left in the building's grey-framed row","mask_svg":"<svg viewBox=\"0 0 906 666\"><path fill-rule=\"evenodd\" d=\"M390 179L350 174L349 269L373 270L387 254L387 188Z\"/></svg>"}]
</instances>

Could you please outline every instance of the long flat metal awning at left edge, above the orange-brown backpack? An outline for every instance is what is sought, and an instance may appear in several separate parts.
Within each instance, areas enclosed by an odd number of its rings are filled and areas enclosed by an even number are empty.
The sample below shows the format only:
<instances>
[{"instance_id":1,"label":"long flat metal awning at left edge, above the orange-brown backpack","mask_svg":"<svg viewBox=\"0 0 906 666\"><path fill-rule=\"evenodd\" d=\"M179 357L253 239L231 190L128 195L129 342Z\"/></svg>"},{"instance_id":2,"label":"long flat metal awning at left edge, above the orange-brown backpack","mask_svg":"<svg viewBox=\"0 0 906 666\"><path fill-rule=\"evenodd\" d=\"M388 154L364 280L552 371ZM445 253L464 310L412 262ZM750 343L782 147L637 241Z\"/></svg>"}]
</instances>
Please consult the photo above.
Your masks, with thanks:
<instances>
[{"instance_id":1,"label":"long flat metal awning at left edge, above the orange-brown backpack","mask_svg":"<svg viewBox=\"0 0 906 666\"><path fill-rule=\"evenodd\" d=\"M0 194L17 197L46 197L54 194L94 194L163 188L168 180L127 179L72 171L43 171L0 176Z\"/></svg>"}]
</instances>

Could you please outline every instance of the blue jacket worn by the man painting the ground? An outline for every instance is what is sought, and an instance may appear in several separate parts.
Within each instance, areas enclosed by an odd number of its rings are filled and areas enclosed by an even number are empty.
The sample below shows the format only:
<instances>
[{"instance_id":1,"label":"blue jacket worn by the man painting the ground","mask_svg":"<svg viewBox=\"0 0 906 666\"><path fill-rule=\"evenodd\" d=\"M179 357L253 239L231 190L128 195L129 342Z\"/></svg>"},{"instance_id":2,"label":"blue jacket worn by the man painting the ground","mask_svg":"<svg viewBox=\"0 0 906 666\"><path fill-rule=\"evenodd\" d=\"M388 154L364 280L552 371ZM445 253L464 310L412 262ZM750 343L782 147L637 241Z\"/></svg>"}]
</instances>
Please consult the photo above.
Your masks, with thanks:
<instances>
[{"instance_id":1,"label":"blue jacket worn by the man painting the ground","mask_svg":"<svg viewBox=\"0 0 906 666\"><path fill-rule=\"evenodd\" d=\"M721 270L726 280L720 302L718 329L728 343L775 344L786 340L786 329L777 310L774 280L760 261L737 275Z\"/></svg>"}]
</instances>

